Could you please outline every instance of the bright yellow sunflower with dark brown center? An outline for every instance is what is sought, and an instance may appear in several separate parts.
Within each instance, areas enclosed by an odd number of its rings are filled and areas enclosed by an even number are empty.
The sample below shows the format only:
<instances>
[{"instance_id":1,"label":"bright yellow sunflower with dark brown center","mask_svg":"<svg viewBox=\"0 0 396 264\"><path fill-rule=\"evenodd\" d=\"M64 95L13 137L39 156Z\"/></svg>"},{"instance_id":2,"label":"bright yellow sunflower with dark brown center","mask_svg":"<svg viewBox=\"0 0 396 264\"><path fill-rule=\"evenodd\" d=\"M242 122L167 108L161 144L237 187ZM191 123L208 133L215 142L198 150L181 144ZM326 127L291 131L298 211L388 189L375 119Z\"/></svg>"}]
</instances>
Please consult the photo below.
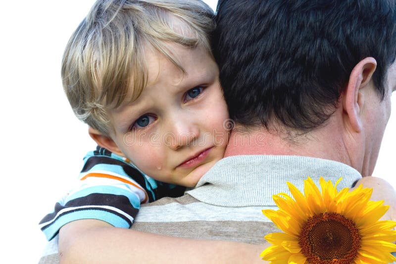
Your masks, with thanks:
<instances>
[{"instance_id":1,"label":"bright yellow sunflower with dark brown center","mask_svg":"<svg viewBox=\"0 0 396 264\"><path fill-rule=\"evenodd\" d=\"M303 195L293 184L286 193L274 195L280 210L262 210L285 233L271 233L273 244L260 257L271 264L379 264L396 258L395 221L379 220L388 210L384 201L370 201L372 189L362 185L349 192L320 178L319 188L304 180Z\"/></svg>"}]
</instances>

